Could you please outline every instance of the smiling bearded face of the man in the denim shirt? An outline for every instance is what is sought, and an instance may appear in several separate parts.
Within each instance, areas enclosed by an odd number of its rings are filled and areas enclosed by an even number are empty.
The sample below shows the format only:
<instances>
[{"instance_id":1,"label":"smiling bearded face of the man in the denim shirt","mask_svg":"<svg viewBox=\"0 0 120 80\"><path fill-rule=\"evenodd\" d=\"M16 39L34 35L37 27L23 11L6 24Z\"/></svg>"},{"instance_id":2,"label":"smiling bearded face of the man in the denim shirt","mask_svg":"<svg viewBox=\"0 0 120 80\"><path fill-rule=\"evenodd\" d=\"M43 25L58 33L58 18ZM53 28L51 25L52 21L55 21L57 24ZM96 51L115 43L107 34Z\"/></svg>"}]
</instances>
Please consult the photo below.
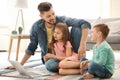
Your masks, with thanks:
<instances>
[{"instance_id":1,"label":"smiling bearded face of the man in the denim shirt","mask_svg":"<svg viewBox=\"0 0 120 80\"><path fill-rule=\"evenodd\" d=\"M40 16L47 24L54 25L56 22L56 16L52 8L47 12L43 12Z\"/></svg>"}]
</instances>

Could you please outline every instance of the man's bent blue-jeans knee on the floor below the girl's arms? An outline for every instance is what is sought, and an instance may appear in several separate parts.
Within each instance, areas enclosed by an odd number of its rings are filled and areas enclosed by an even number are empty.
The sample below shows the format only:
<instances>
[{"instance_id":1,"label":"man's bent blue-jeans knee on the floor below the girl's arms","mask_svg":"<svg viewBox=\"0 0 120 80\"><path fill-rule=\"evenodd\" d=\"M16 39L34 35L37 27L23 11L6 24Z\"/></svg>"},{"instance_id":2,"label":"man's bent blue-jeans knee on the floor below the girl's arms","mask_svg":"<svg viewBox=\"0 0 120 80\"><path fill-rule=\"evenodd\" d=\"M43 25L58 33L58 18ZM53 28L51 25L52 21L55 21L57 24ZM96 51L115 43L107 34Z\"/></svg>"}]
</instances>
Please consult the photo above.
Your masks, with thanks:
<instances>
[{"instance_id":1,"label":"man's bent blue-jeans knee on the floor below the girl's arms","mask_svg":"<svg viewBox=\"0 0 120 80\"><path fill-rule=\"evenodd\" d=\"M59 65L59 60L51 58L49 59L47 62L45 62L45 66L47 68L48 71L51 72L58 72L58 65Z\"/></svg>"}]
</instances>

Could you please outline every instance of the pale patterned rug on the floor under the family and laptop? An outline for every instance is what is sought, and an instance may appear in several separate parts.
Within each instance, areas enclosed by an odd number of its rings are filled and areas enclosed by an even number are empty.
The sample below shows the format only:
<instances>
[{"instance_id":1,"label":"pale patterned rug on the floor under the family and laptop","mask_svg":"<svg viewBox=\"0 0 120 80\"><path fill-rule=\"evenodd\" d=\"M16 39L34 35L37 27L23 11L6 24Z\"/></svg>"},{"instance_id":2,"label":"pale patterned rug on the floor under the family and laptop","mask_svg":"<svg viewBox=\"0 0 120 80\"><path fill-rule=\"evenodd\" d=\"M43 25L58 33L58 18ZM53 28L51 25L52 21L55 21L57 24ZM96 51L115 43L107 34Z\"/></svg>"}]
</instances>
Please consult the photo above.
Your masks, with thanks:
<instances>
[{"instance_id":1,"label":"pale patterned rug on the floor under the family and laptop","mask_svg":"<svg viewBox=\"0 0 120 80\"><path fill-rule=\"evenodd\" d=\"M46 71L44 69L46 69L46 68L44 66L41 69L39 69L41 66L42 65L39 65L39 66L36 66L37 68L33 67L32 69L35 69L36 71L39 71L39 73L44 73ZM20 76L18 76L17 71L13 71L12 73L2 74L2 75L7 76L7 77L18 77L18 78L20 78ZM55 74L52 74L52 75L36 77L36 78L34 78L34 80L84 80L84 79L83 79L82 75L62 76L62 75L59 75L59 74L55 73ZM120 67L115 69L115 73L110 79L93 78L93 79L89 79L89 80L120 80Z\"/></svg>"}]
</instances>

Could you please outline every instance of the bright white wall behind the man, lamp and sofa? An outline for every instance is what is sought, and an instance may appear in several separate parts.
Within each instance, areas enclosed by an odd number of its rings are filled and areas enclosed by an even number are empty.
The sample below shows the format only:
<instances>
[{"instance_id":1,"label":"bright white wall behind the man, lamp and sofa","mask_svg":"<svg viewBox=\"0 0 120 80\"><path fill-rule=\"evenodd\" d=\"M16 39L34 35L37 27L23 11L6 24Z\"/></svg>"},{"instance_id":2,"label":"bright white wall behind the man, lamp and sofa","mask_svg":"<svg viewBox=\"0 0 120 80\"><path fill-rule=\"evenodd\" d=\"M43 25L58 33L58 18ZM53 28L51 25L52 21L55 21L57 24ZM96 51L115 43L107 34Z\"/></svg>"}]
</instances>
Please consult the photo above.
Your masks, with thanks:
<instances>
[{"instance_id":1,"label":"bright white wall behind the man, lamp and sofa","mask_svg":"<svg viewBox=\"0 0 120 80\"><path fill-rule=\"evenodd\" d=\"M29 34L32 24L40 18L37 6L41 1L51 2L57 15L84 19L96 19L99 16L102 18L120 17L120 0L28 0L28 8L23 9L25 34ZM9 37L3 34L10 34L15 28L18 9L14 5L15 0L0 0L0 50L7 50L9 47ZM28 41L21 42L21 50L27 47L26 42ZM13 49L16 48L16 43L15 41Z\"/></svg>"}]
</instances>

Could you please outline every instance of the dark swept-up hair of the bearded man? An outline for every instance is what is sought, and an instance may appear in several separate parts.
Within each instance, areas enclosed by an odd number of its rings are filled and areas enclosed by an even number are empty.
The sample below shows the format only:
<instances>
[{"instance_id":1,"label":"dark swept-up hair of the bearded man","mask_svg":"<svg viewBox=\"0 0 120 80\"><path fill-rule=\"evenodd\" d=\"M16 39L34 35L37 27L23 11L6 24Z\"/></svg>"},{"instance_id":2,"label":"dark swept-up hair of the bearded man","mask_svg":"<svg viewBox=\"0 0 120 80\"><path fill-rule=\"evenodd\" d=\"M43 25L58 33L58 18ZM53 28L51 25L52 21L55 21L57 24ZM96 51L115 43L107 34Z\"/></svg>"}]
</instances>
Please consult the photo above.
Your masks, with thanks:
<instances>
[{"instance_id":1,"label":"dark swept-up hair of the bearded man","mask_svg":"<svg viewBox=\"0 0 120 80\"><path fill-rule=\"evenodd\" d=\"M38 10L40 13L43 13L45 11L49 11L52 8L52 4L50 2L41 2L38 5Z\"/></svg>"}]
</instances>

